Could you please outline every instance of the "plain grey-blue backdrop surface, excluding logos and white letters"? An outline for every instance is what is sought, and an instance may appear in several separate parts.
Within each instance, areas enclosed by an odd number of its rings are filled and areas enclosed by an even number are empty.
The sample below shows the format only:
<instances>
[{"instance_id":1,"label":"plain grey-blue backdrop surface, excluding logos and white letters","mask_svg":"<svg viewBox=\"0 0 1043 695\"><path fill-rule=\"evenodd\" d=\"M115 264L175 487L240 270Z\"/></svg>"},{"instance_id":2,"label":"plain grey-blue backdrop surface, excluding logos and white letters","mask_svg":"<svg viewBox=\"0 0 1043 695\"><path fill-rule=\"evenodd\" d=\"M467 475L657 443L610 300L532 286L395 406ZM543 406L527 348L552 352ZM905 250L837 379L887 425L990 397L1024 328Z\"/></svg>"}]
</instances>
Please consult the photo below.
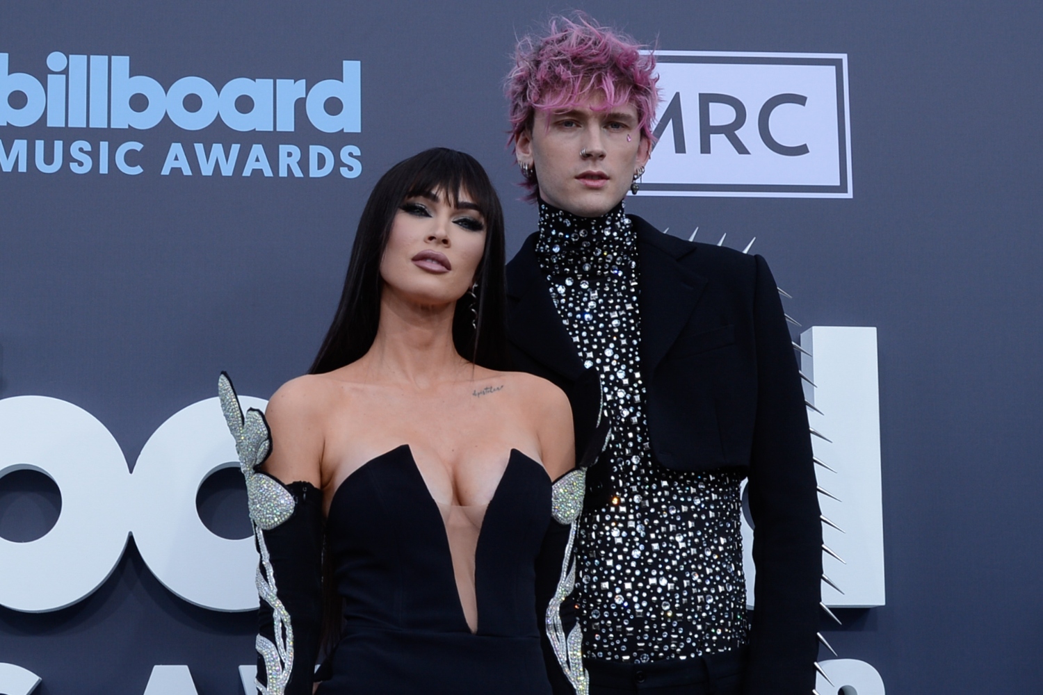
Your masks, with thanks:
<instances>
[{"instance_id":1,"label":"plain grey-blue backdrop surface, excluding logos and white letters","mask_svg":"<svg viewBox=\"0 0 1043 695\"><path fill-rule=\"evenodd\" d=\"M0 173L0 397L76 403L129 462L170 415L214 395L221 369L265 397L307 369L365 196L394 162L435 145L476 155L504 198L513 254L535 213L505 150L501 80L514 38L569 6L209 4L0 5L0 52L39 79L54 50L129 55L131 74L165 86L186 75L311 84L338 76L342 59L362 63L361 133L220 122L188 133L166 120L82 135L43 120L0 127L5 146L30 139L28 171ZM892 693L1036 691L1043 6L572 6L664 49L848 54L852 199L640 198L628 209L685 237L697 225L739 247L756 235L805 326L878 328L888 605L842 612L843 628L823 619L841 655L872 664ZM34 170L32 139L68 148L79 136L143 143L145 173ZM364 169L354 179L161 176L172 141L353 144ZM211 487L204 514L241 530L235 480ZM5 537L54 514L53 491L25 476L0 489ZM187 664L201 695L231 695L252 635L251 616L167 592L131 541L89 599L49 614L0 609L0 662L43 676L40 695L138 695L153 664Z\"/></svg>"}]
</instances>

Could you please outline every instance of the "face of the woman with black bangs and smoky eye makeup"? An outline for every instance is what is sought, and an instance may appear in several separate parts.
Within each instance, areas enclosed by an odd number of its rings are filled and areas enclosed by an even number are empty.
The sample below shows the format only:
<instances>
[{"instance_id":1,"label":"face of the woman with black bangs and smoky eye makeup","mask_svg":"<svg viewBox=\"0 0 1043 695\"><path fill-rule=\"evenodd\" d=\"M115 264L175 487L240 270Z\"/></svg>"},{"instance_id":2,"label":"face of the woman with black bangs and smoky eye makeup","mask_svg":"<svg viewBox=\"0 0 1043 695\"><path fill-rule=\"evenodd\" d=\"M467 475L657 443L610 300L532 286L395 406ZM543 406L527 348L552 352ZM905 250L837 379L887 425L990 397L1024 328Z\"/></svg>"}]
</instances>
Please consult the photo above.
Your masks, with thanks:
<instances>
[{"instance_id":1,"label":"face of the woman with black bangs and smoky eye makeup","mask_svg":"<svg viewBox=\"0 0 1043 695\"><path fill-rule=\"evenodd\" d=\"M485 218L465 191L407 198L391 223L381 277L384 291L422 305L456 302L475 282L485 248Z\"/></svg>"}]
</instances>

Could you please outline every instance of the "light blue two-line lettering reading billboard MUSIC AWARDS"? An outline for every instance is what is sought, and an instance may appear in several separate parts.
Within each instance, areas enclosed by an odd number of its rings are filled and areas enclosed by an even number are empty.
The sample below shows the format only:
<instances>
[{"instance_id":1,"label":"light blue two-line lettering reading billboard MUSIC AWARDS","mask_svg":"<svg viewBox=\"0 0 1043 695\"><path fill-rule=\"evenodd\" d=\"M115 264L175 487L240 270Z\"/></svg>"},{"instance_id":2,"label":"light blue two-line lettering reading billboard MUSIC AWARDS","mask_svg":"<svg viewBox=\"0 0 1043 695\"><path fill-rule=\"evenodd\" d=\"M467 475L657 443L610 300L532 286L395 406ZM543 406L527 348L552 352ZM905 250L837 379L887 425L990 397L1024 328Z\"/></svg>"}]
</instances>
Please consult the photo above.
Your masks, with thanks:
<instances>
[{"instance_id":1,"label":"light blue two-line lettering reading billboard MUSIC AWARDS","mask_svg":"<svg viewBox=\"0 0 1043 695\"><path fill-rule=\"evenodd\" d=\"M126 55L54 51L47 56L47 68L50 74L45 79L11 72L9 55L0 53L0 126L126 132L154 128L167 117L188 131L202 130L220 120L240 132L294 132L297 116L302 115L321 132L362 132L358 60L341 61L339 77L317 81L310 89L304 79L247 77L236 77L218 89L196 76L181 77L164 89L152 77L131 75ZM213 176L217 171L220 176L323 178L337 171L343 178L357 178L362 173L362 151L350 144L331 149L324 144L285 141L172 142L160 166L151 152L143 152L144 143L110 142L113 134L104 130L91 140L66 139L59 130L54 140L34 142L18 138L17 132L6 131L15 135L6 142L0 139L0 172L26 173L31 163L41 174L65 169L73 174L107 174L112 169L137 176L151 169L161 176Z\"/></svg>"}]
</instances>

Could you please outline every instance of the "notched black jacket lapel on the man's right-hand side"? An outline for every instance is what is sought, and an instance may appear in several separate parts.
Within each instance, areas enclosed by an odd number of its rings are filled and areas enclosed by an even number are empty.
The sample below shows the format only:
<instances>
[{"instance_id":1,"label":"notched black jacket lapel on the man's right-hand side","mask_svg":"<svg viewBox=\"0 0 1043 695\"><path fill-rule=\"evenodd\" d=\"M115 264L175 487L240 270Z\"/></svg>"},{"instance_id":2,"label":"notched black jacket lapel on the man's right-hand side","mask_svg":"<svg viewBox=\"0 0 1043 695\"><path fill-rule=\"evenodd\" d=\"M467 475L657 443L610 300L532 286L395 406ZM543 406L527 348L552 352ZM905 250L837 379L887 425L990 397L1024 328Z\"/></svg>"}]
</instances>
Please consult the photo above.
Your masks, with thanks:
<instances>
[{"instance_id":1,"label":"notched black jacket lapel on the man's right-hand side","mask_svg":"<svg viewBox=\"0 0 1043 695\"><path fill-rule=\"evenodd\" d=\"M663 234L639 217L630 218L637 229L641 371L648 382L692 316L706 278L680 263L696 247Z\"/></svg>"}]
</instances>

